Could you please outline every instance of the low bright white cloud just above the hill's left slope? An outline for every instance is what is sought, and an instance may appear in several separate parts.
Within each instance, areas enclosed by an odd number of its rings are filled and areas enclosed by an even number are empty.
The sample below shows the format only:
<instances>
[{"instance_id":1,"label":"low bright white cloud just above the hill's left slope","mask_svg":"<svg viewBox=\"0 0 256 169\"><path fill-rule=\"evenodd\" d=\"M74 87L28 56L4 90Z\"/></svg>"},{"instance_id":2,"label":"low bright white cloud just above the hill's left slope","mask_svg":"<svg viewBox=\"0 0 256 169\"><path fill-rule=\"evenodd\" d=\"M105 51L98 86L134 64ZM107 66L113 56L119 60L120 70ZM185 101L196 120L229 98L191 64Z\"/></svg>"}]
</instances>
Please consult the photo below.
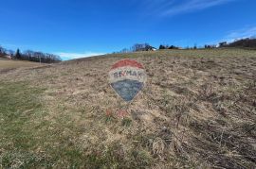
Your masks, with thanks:
<instances>
[{"instance_id":1,"label":"low bright white cloud just above the hill's left slope","mask_svg":"<svg viewBox=\"0 0 256 169\"><path fill-rule=\"evenodd\" d=\"M98 52L84 52L84 53L68 53L68 52L57 52L56 55L60 56L62 59L81 59L93 56L100 56L104 55L105 53L98 53Z\"/></svg>"}]
</instances>

